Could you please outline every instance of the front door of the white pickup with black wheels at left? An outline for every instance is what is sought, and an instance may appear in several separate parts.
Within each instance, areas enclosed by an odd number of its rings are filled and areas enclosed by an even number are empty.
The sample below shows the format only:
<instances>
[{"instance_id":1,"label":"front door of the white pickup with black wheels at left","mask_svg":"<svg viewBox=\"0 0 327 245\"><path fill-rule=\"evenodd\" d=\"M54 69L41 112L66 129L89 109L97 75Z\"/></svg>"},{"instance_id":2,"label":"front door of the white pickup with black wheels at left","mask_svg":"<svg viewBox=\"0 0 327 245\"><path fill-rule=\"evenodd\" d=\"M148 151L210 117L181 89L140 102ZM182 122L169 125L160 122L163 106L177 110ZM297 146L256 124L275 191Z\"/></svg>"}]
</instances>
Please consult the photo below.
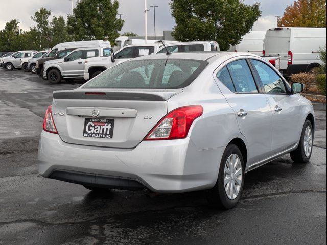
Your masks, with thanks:
<instances>
[{"instance_id":1,"label":"front door of the white pickup with black wheels at left","mask_svg":"<svg viewBox=\"0 0 327 245\"><path fill-rule=\"evenodd\" d=\"M63 76L80 77L84 75L84 51L77 50L66 56L62 63Z\"/></svg>"}]
</instances>

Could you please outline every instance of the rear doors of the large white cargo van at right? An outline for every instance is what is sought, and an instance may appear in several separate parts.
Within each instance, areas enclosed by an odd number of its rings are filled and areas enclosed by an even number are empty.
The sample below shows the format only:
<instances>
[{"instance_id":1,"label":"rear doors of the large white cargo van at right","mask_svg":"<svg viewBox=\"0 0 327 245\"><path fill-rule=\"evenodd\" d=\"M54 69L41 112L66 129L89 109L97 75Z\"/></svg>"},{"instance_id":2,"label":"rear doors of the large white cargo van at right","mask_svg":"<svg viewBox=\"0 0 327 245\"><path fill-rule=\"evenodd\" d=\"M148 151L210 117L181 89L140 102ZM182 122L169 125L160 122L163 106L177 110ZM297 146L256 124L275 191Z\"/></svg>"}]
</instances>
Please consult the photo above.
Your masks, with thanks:
<instances>
[{"instance_id":1,"label":"rear doors of the large white cargo van at right","mask_svg":"<svg viewBox=\"0 0 327 245\"><path fill-rule=\"evenodd\" d=\"M287 69L287 55L290 47L290 29L272 29L266 33L265 56L281 56L281 69Z\"/></svg>"}]
</instances>

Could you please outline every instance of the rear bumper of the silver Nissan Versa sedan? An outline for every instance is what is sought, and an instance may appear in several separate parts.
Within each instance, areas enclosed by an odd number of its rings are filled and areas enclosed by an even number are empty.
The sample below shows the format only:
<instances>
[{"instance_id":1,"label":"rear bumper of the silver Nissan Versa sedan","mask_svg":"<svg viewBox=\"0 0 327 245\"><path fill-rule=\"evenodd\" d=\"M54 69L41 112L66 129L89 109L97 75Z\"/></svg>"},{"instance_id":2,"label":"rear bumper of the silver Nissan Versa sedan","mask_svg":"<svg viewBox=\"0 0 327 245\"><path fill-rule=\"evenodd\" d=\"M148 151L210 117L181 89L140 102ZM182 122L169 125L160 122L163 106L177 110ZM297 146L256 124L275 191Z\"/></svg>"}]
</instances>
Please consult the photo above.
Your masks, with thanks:
<instances>
[{"instance_id":1,"label":"rear bumper of the silver Nissan Versa sedan","mask_svg":"<svg viewBox=\"0 0 327 245\"><path fill-rule=\"evenodd\" d=\"M142 141L134 149L84 146L43 131L38 171L43 177L77 184L130 189L129 185L140 183L154 192L186 192L215 185L223 151L200 151L190 138Z\"/></svg>"}]
</instances>

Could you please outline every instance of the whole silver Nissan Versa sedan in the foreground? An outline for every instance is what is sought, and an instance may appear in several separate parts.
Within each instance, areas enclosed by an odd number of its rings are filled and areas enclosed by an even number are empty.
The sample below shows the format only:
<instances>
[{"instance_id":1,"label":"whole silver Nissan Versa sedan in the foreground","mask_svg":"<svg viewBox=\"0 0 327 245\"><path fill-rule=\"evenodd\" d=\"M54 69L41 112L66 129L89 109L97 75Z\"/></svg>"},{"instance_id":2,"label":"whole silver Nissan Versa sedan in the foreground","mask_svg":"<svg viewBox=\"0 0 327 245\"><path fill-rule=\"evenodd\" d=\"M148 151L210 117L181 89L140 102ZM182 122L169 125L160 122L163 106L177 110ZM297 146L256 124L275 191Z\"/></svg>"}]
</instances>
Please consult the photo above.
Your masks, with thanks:
<instances>
[{"instance_id":1,"label":"whole silver Nissan Versa sedan in the foreground","mask_svg":"<svg viewBox=\"0 0 327 245\"><path fill-rule=\"evenodd\" d=\"M38 172L91 190L207 190L232 208L247 171L286 153L309 161L315 117L302 90L249 53L138 57L53 93Z\"/></svg>"}]
</instances>

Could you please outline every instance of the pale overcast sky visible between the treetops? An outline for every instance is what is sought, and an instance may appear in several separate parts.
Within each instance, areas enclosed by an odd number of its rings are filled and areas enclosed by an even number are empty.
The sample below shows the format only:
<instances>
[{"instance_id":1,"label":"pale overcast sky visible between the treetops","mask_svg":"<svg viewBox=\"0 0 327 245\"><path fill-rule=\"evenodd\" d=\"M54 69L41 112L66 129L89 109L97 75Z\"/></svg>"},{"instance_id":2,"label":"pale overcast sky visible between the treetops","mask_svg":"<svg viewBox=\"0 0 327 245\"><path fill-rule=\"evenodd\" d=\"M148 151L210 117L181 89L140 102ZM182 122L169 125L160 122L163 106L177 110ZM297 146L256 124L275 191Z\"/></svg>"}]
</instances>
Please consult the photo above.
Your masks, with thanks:
<instances>
[{"instance_id":1,"label":"pale overcast sky visible between the treetops","mask_svg":"<svg viewBox=\"0 0 327 245\"><path fill-rule=\"evenodd\" d=\"M73 0L74 6L76 0ZM153 8L151 5L158 5L156 8L156 32L162 35L164 30L172 30L174 19L171 17L169 9L170 0L148 0L148 33L154 35ZM260 2L262 17L254 24L253 31L265 31L276 26L275 15L283 15L285 7L293 4L294 0L244 0L245 4ZM144 35L144 0L119 0L119 14L124 14L125 20L123 32L136 32ZM11 19L20 19L21 28L28 30L35 25L31 16L39 8L45 7L51 10L52 15L62 15L67 17L72 12L71 0L1 0L0 3L0 30L5 27L5 23Z\"/></svg>"}]
</instances>

